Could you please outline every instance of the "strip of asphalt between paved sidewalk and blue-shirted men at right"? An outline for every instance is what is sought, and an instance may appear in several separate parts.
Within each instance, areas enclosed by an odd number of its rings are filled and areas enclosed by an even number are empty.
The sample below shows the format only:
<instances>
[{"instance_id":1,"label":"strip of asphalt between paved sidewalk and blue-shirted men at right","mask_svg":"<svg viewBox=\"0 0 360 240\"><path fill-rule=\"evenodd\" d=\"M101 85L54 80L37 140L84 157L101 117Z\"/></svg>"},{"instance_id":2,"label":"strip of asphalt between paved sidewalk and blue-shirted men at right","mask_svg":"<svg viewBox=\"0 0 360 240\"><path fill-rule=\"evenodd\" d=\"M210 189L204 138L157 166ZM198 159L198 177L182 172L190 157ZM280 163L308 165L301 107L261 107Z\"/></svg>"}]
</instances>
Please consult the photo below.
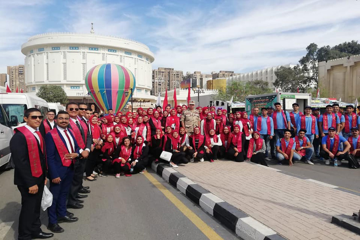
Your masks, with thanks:
<instances>
[{"instance_id":1,"label":"strip of asphalt between paved sidewalk and blue-shirted men at right","mask_svg":"<svg viewBox=\"0 0 360 240\"><path fill-rule=\"evenodd\" d=\"M296 162L292 167L278 165L274 160L267 163L272 168L360 193L360 169L348 168L347 161L342 161L341 166L338 167L334 167L333 162L330 162L330 165L325 165L324 161L317 161L316 159L314 159L314 165Z\"/></svg>"}]
</instances>

